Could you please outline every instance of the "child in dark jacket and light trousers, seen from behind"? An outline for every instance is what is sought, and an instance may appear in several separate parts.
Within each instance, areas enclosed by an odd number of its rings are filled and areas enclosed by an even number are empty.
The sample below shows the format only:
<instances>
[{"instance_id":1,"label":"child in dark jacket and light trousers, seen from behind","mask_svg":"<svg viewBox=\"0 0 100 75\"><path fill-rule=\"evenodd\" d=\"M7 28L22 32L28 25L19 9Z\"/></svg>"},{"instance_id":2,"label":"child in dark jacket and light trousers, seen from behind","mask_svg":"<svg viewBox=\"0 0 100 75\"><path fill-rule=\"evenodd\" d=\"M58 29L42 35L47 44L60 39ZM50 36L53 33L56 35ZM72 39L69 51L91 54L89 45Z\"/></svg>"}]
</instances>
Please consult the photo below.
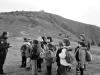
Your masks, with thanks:
<instances>
[{"instance_id":1,"label":"child in dark jacket and light trousers, seen from behind","mask_svg":"<svg viewBox=\"0 0 100 75\"><path fill-rule=\"evenodd\" d=\"M31 51L31 64L32 64L32 74L37 75L37 59L39 58L39 51L38 51L38 40L33 40L33 46Z\"/></svg>"}]
</instances>

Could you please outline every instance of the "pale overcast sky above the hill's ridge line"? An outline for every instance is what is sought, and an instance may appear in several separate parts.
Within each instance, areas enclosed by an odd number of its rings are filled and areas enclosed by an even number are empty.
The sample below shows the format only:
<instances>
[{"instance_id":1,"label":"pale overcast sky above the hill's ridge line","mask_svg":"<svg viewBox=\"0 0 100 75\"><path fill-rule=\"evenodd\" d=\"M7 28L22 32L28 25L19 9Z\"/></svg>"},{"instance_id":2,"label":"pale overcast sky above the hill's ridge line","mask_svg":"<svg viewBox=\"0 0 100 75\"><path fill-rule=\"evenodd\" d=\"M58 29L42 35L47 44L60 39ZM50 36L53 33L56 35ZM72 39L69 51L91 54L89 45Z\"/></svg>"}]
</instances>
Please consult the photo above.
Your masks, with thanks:
<instances>
[{"instance_id":1,"label":"pale overcast sky above the hill's ridge line","mask_svg":"<svg viewBox=\"0 0 100 75\"><path fill-rule=\"evenodd\" d=\"M100 0L0 0L0 12L41 11L100 27Z\"/></svg>"}]
</instances>

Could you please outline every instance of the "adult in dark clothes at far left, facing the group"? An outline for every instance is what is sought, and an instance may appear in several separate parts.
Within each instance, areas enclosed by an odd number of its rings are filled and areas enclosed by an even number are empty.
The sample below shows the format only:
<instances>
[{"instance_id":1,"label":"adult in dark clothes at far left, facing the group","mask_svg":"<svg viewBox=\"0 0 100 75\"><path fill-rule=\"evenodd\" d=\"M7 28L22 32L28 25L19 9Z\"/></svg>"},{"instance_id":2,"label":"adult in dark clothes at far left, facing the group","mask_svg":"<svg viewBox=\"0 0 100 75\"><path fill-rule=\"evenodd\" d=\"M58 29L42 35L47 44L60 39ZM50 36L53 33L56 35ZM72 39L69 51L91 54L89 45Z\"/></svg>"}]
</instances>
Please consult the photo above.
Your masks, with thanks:
<instances>
[{"instance_id":1,"label":"adult in dark clothes at far left, facing the group","mask_svg":"<svg viewBox=\"0 0 100 75\"><path fill-rule=\"evenodd\" d=\"M3 32L0 36L0 75L6 74L3 72L3 65L6 59L6 55L8 52L8 48L10 47L10 43L7 42L8 32Z\"/></svg>"}]
</instances>

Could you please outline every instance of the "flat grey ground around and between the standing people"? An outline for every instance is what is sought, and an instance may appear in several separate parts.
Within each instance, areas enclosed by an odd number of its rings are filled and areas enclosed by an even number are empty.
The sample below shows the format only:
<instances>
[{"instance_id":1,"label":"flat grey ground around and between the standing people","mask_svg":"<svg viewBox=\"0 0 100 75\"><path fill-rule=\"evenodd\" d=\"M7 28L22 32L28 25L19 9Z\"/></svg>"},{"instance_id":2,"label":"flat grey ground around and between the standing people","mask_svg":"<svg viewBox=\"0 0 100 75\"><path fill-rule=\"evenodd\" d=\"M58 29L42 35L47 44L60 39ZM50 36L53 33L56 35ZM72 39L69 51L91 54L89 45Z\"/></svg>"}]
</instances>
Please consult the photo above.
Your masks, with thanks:
<instances>
[{"instance_id":1,"label":"flat grey ground around and between the standing people","mask_svg":"<svg viewBox=\"0 0 100 75\"><path fill-rule=\"evenodd\" d=\"M9 48L6 61L4 64L4 72L7 75L31 75L31 70L26 71L24 68L20 68L21 65L21 54L20 47L22 45L22 41L20 39L10 40L13 46ZM73 44L74 45L74 44ZM84 75L100 75L100 48L92 46L91 53L93 56L93 60L87 64L87 70L84 71ZM68 72L68 75L76 75L75 73L76 61L72 64L72 69ZM56 75L56 63L52 66L52 75ZM38 73L38 75L45 75L46 67L45 62L42 63L42 72Z\"/></svg>"}]
</instances>

